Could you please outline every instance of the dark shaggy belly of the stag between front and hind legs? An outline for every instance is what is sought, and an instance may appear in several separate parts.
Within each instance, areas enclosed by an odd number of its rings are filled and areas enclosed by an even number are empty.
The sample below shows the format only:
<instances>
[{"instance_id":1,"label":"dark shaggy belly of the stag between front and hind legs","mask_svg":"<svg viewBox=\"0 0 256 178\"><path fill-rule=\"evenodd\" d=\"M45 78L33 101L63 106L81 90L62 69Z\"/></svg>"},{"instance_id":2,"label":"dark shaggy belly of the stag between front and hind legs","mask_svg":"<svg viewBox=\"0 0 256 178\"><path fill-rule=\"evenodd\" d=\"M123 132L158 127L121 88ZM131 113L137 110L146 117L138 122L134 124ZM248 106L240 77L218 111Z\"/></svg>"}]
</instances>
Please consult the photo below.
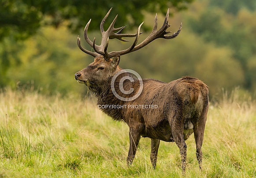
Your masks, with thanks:
<instances>
[{"instance_id":1,"label":"dark shaggy belly of the stag between front and hind legs","mask_svg":"<svg viewBox=\"0 0 256 178\"><path fill-rule=\"evenodd\" d=\"M167 142L174 141L171 134L171 127L167 120L162 120L161 122L157 123L156 126L146 127L145 133L142 134L142 137L149 137Z\"/></svg>"}]
</instances>

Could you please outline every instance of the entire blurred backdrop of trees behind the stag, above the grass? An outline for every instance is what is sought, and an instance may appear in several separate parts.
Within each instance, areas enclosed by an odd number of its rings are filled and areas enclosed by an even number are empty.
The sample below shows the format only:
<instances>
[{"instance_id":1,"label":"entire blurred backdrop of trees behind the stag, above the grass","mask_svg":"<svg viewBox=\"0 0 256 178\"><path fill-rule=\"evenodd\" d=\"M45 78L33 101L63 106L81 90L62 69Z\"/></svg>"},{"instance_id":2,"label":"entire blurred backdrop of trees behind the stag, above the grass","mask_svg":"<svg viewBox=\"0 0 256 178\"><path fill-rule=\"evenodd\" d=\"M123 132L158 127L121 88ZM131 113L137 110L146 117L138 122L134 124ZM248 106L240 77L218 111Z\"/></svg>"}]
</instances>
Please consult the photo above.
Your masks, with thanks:
<instances>
[{"instance_id":1,"label":"entire blurred backdrop of trees behind the stag, above the grass","mask_svg":"<svg viewBox=\"0 0 256 178\"><path fill-rule=\"evenodd\" d=\"M99 1L2 1L0 8L5 5L10 8L6 11L17 12L10 13L18 18L17 21L22 21L20 11L28 12L30 6L36 7L33 4L41 9L32 9L35 19L31 21L24 15L28 26L24 22L23 30L18 28L19 24L3 25L3 17L6 17L0 10L0 86L33 85L44 93L81 94L85 86L75 82L74 73L93 62L93 57L80 51L76 38L83 34L82 29L90 18L89 38L96 37L96 44L101 39L98 33L100 21L110 7L113 10L105 27L116 14L119 17L115 27L137 28L144 19L142 41L150 33L148 28L153 26L151 12L166 13L168 7L174 7L171 9L174 16L169 18L170 29L173 32L178 30L182 22L180 35L173 40L157 39L137 52L121 56L119 66L137 71L142 78L164 82L184 75L200 78L209 86L211 97L220 93L222 88L231 90L235 86L255 95L255 0L197 0L190 5L187 3L191 0L142 1L128 0L123 5L115 0L110 4L102 1L100 7L97 6ZM6 5L6 2L10 4ZM17 2L22 8L17 8ZM43 3L49 4L48 7ZM177 12L185 7L189 7L187 11ZM158 15L161 26L164 17ZM135 31L132 28L126 30ZM85 41L81 43L90 49ZM129 45L130 42L111 40L108 51L122 50Z\"/></svg>"}]
</instances>

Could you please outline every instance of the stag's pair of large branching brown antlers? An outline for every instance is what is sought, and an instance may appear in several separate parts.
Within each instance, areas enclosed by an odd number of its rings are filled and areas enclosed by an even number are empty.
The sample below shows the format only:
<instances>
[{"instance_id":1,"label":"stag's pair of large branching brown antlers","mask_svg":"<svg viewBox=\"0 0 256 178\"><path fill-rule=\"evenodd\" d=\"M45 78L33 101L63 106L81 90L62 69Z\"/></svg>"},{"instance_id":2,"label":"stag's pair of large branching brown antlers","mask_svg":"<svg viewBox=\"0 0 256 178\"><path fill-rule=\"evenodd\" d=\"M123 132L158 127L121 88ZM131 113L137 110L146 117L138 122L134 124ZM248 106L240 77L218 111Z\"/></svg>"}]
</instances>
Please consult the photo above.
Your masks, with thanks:
<instances>
[{"instance_id":1,"label":"stag's pair of large branching brown antlers","mask_svg":"<svg viewBox=\"0 0 256 178\"><path fill-rule=\"evenodd\" d=\"M140 29L141 29L141 26L144 22L142 22L141 25L138 27L136 34L121 34L122 30L126 26L122 26L122 27L119 27L117 29L114 28L114 24L115 24L115 21L117 19L117 15L116 15L115 19L113 20L111 25L108 27L108 30L104 31L103 25L104 25L104 22L105 22L105 20L107 19L108 15L109 15L111 9L108 11L108 13L105 15L104 19L100 23L100 31L101 31L101 34L102 34L102 40L101 40L100 46L95 44L95 37L94 37L94 40L92 42L92 41L90 41L90 39L87 36L87 30L88 30L89 24L91 22L91 19L89 20L89 22L85 26L85 30L84 30L85 41L91 47L93 47L95 52L91 52L91 51L88 51L88 50L82 48L82 46L80 44L80 38L78 36L78 47L83 52L85 52L85 53L87 53L91 56L94 56L94 57L102 55L102 56L104 56L104 59L109 60L111 57L114 57L114 56L117 56L117 55L121 56L121 55L130 53L130 52L137 51L138 49L143 48L144 46L148 45L151 41L153 41L157 38L173 39L173 38L178 36L178 34L180 33L180 31L182 29L182 23L181 23L181 26L179 27L177 32L173 33L172 35L167 35L168 33L171 33L171 32L166 32L166 30L171 26L171 25L168 24L168 17L169 17L169 9L168 9L167 14L166 14L165 19L164 19L164 22L163 22L163 26L159 30L157 30L157 14L156 14L154 27L153 27L152 32L150 33L150 35L144 41L142 41L139 45L137 45L139 36L142 33L142 32L140 32ZM117 31L117 30L119 30L119 31L115 33L115 31ZM130 48L127 48L125 50L113 51L113 52L108 53L107 52L108 40L116 38L120 41L129 41L129 40L122 39L122 37L135 37L134 43L130 46Z\"/></svg>"}]
</instances>

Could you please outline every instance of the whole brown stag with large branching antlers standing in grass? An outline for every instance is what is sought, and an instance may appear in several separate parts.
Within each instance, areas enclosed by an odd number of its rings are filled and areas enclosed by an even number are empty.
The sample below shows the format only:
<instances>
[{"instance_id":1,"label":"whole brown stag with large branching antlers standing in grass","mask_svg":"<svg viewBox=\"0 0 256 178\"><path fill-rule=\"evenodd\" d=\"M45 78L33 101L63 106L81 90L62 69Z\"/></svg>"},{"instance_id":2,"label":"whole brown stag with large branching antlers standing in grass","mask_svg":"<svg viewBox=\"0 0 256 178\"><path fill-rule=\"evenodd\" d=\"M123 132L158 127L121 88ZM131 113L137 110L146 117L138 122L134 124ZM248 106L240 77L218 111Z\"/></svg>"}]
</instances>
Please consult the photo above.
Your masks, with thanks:
<instances>
[{"instance_id":1,"label":"whole brown stag with large branching antlers standing in grass","mask_svg":"<svg viewBox=\"0 0 256 178\"><path fill-rule=\"evenodd\" d=\"M126 26L114 27L116 15L108 30L104 31L104 22L111 9L100 23L102 34L100 45L95 44L95 37L93 41L88 37L87 31L91 19L85 26L85 41L93 48L94 52L83 48L78 36L78 47L86 54L93 56L94 62L78 71L75 74L75 79L78 83L87 85L88 89L96 96L97 105L104 106L98 107L100 110L112 119L123 121L129 126L130 147L126 159L128 166L134 161L141 137L149 137L151 139L152 167L156 168L160 141L175 142L180 150L182 174L186 174L187 146L185 140L194 133L196 156L201 170L203 156L201 147L209 106L208 86L198 78L189 76L169 83L152 78L140 79L119 67L120 56L137 51L157 38L173 39L177 37L182 29L182 23L177 32L168 35L171 33L166 31L171 26L168 24L169 9L163 26L159 30L157 30L156 14L152 32L144 41L137 44L144 22L138 27L137 33L125 34L122 33L122 30ZM121 51L107 51L109 39L129 41L123 37L135 37L129 48ZM137 93L139 95L134 97Z\"/></svg>"}]
</instances>

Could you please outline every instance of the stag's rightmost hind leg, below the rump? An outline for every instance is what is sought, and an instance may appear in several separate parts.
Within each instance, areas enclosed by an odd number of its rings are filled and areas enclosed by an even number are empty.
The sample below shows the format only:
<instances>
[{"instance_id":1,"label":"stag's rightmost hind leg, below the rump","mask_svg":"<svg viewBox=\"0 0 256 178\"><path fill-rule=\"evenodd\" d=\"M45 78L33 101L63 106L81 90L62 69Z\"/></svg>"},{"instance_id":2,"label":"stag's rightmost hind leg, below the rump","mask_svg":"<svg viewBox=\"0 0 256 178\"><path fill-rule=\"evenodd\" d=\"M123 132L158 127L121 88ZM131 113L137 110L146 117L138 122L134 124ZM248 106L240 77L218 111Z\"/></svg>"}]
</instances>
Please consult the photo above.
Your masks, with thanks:
<instances>
[{"instance_id":1,"label":"stag's rightmost hind leg, below the rump","mask_svg":"<svg viewBox=\"0 0 256 178\"><path fill-rule=\"evenodd\" d=\"M208 112L208 103L206 105L206 107L204 107L199 120L197 123L193 123L194 124L194 137L195 137L195 141L196 141L196 155L197 155L197 161L199 164L199 169L201 170L201 164L202 164L202 157L203 157L203 152L202 152L202 145L203 145L203 140L204 140L204 128L205 128L205 123L206 123L206 116L207 116L207 112Z\"/></svg>"}]
</instances>

